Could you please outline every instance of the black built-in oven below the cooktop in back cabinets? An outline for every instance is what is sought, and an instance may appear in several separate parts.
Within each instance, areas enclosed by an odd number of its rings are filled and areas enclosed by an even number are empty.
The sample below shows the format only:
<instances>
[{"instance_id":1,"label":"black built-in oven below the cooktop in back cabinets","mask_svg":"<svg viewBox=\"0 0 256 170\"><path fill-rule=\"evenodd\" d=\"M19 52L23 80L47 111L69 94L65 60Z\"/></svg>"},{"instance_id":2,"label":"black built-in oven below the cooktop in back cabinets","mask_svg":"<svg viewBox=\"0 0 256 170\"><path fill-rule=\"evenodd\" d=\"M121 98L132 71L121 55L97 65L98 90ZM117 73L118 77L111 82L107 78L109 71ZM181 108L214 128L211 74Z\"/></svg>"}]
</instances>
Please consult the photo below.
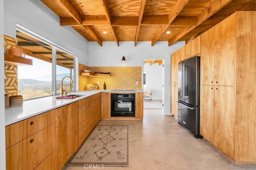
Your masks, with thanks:
<instances>
[{"instance_id":1,"label":"black built-in oven below the cooktop in back cabinets","mask_svg":"<svg viewBox=\"0 0 256 170\"><path fill-rule=\"evenodd\" d=\"M111 117L135 117L135 94L111 94Z\"/></svg>"}]
</instances>

